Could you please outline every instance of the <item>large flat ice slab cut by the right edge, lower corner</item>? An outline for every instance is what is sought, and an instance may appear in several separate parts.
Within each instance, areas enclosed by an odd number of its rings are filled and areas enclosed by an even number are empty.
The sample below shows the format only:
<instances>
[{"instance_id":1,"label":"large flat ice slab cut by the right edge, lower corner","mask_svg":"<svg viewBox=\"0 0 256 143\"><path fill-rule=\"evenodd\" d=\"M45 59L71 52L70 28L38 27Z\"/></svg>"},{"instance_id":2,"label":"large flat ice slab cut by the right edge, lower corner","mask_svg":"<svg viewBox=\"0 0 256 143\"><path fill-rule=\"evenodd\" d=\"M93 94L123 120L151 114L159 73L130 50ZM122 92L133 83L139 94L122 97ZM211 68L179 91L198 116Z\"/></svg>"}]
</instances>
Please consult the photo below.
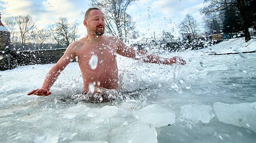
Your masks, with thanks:
<instances>
[{"instance_id":1,"label":"large flat ice slab cut by the right edge, lower corner","mask_svg":"<svg viewBox=\"0 0 256 143\"><path fill-rule=\"evenodd\" d=\"M256 102L240 104L215 102L213 109L219 121L249 128L256 132Z\"/></svg>"}]
</instances>

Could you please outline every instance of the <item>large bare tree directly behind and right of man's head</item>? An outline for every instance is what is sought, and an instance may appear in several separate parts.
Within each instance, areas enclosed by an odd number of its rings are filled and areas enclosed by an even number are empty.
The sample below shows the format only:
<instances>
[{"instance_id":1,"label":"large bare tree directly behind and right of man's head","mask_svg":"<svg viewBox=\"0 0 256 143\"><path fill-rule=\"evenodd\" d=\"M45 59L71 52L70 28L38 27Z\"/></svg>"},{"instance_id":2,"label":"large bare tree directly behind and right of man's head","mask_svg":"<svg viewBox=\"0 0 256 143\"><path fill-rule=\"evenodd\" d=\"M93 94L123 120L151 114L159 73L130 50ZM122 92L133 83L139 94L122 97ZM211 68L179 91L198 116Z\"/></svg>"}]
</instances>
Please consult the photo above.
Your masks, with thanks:
<instances>
[{"instance_id":1,"label":"large bare tree directly behind and right of man's head","mask_svg":"<svg viewBox=\"0 0 256 143\"><path fill-rule=\"evenodd\" d=\"M105 16L106 32L127 40L128 31L135 29L130 15L126 13L128 6L136 0L91 0L91 6L100 8Z\"/></svg>"}]
</instances>

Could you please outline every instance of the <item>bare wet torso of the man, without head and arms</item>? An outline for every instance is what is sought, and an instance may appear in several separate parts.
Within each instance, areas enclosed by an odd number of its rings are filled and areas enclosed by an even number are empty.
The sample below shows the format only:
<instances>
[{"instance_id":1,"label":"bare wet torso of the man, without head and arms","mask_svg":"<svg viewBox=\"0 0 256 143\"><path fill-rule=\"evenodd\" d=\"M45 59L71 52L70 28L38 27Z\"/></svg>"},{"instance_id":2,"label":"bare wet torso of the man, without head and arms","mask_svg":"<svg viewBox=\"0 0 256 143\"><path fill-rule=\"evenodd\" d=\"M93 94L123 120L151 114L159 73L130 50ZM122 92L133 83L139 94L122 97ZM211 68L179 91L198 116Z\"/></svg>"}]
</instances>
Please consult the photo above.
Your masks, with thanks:
<instances>
[{"instance_id":1,"label":"bare wet torso of the man, without head and arms","mask_svg":"<svg viewBox=\"0 0 256 143\"><path fill-rule=\"evenodd\" d=\"M103 40L99 42L91 42L85 38L79 41L74 50L84 82L83 90L88 92L89 84L107 89L117 89L117 43L115 39L104 36ZM90 60L94 60L94 62Z\"/></svg>"}]
</instances>

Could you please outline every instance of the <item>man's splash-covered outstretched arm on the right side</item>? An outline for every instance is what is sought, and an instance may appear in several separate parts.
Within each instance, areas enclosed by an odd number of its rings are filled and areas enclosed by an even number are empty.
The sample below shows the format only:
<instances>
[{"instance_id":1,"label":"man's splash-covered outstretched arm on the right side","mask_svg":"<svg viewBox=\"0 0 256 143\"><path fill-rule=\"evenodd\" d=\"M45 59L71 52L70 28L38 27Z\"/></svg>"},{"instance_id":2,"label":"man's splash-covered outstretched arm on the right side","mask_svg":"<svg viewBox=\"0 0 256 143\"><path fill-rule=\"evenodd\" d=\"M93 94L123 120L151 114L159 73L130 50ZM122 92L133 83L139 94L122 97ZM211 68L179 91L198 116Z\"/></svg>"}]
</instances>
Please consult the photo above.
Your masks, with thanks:
<instances>
[{"instance_id":1,"label":"man's splash-covered outstretched arm on the right side","mask_svg":"<svg viewBox=\"0 0 256 143\"><path fill-rule=\"evenodd\" d=\"M186 64L185 60L178 57L163 58L156 55L148 54L147 52L144 52L142 50L135 51L133 48L126 46L124 42L119 39L117 54L133 59L142 59L142 61L146 63L161 63L170 65L178 61L182 65Z\"/></svg>"}]
</instances>

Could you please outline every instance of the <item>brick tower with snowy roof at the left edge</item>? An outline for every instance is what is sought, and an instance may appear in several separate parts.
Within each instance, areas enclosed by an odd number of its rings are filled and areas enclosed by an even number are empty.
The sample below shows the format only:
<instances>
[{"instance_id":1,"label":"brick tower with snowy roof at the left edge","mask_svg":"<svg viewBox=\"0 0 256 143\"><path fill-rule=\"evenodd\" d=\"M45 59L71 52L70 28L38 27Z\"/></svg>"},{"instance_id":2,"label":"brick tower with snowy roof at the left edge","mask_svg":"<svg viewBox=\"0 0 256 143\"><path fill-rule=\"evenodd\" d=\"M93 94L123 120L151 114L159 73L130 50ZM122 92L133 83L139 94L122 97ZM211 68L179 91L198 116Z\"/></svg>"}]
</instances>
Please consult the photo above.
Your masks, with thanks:
<instances>
[{"instance_id":1,"label":"brick tower with snowy roof at the left edge","mask_svg":"<svg viewBox=\"0 0 256 143\"><path fill-rule=\"evenodd\" d=\"M6 46L10 44L10 32L4 27L1 22L1 13L0 13L0 51L6 50Z\"/></svg>"}]
</instances>

